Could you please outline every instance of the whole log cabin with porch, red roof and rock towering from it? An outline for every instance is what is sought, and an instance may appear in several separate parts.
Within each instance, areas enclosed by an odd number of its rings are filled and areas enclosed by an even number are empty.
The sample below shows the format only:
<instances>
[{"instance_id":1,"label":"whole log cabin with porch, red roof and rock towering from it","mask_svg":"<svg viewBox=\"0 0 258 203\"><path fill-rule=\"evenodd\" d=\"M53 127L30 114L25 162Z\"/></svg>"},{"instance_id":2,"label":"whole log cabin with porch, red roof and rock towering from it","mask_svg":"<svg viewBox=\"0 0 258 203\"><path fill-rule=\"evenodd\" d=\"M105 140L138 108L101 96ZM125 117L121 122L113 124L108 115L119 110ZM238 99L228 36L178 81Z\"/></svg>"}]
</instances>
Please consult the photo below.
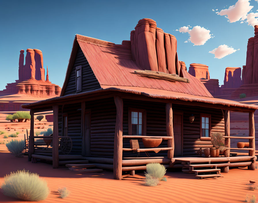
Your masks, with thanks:
<instances>
[{"instance_id":1,"label":"whole log cabin with porch, red roof and rock towering from it","mask_svg":"<svg viewBox=\"0 0 258 203\"><path fill-rule=\"evenodd\" d=\"M208 162L223 172L229 167L255 170L258 107L213 98L178 60L176 38L151 19L139 20L130 40L122 44L75 35L60 97L22 107L30 109L32 118L53 110L50 153L36 148L34 140L40 136L34 136L31 119L28 157L52 161L53 168L65 163L60 160L78 157L113 170L114 179L145 170L147 163L193 170L192 163ZM249 136L230 136L230 111L249 113ZM224 155L200 158L202 149L213 147L210 135L217 132L225 138ZM68 154L60 151L64 138L72 143ZM144 138L162 142L146 147ZM249 140L249 148L242 149L248 155L231 155L236 148L230 146L232 138Z\"/></svg>"}]
</instances>

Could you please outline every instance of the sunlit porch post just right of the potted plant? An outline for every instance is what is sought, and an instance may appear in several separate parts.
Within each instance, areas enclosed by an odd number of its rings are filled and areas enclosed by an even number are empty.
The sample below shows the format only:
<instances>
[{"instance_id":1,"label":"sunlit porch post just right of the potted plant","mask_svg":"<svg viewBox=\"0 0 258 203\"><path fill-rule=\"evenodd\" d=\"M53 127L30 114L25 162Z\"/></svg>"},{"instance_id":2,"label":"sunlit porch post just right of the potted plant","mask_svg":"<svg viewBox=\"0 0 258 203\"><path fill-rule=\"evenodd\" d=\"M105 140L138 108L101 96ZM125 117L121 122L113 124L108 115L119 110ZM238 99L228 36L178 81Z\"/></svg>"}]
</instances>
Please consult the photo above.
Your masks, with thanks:
<instances>
[{"instance_id":1,"label":"sunlit porch post just right of the potted plant","mask_svg":"<svg viewBox=\"0 0 258 203\"><path fill-rule=\"evenodd\" d=\"M225 121L225 136L230 136L230 119L229 110L224 110L224 121ZM225 146L230 148L230 138L225 138ZM230 156L230 149L226 149L225 157ZM222 170L223 173L228 173L229 166L225 166Z\"/></svg>"}]
</instances>

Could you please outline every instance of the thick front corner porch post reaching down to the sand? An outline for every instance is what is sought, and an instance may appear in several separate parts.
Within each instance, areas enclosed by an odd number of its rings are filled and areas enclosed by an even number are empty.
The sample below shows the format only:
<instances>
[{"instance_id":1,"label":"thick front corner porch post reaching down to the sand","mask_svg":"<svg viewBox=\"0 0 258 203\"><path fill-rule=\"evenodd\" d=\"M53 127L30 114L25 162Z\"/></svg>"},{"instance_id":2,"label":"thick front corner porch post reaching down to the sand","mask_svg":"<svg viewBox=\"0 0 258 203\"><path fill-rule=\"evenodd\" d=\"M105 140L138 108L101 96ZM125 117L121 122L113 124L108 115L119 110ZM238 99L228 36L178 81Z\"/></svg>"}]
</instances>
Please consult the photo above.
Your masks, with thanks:
<instances>
[{"instance_id":1,"label":"thick front corner porch post reaching down to the sand","mask_svg":"<svg viewBox=\"0 0 258 203\"><path fill-rule=\"evenodd\" d=\"M114 140L113 174L114 179L122 179L122 156L123 156L123 99L114 96L116 105L116 123Z\"/></svg>"}]
</instances>

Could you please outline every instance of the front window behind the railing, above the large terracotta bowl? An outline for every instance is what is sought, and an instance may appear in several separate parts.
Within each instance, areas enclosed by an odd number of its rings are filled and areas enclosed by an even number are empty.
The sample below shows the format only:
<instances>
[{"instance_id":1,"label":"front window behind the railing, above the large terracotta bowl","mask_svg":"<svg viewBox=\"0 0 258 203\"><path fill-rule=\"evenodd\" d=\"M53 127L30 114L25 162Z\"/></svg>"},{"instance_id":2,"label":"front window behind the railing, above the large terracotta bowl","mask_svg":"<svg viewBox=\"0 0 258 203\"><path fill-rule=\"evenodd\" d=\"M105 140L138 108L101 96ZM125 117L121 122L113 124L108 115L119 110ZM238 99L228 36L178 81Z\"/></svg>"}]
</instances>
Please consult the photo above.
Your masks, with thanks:
<instances>
[{"instance_id":1,"label":"front window behind the railing, above the large terracotta bowl","mask_svg":"<svg viewBox=\"0 0 258 203\"><path fill-rule=\"evenodd\" d=\"M129 110L129 135L146 135L145 111L130 109Z\"/></svg>"}]
</instances>

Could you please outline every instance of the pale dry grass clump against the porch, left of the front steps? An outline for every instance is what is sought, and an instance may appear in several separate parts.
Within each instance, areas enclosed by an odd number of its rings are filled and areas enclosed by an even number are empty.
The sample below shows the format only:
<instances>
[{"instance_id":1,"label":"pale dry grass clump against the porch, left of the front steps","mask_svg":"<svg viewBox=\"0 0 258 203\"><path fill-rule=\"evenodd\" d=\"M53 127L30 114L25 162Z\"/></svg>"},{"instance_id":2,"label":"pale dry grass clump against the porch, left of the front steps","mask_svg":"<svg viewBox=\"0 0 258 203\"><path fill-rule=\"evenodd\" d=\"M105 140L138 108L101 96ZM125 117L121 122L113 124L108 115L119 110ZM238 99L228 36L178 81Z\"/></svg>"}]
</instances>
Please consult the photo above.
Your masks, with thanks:
<instances>
[{"instance_id":1,"label":"pale dry grass clump against the porch, left of the front steps","mask_svg":"<svg viewBox=\"0 0 258 203\"><path fill-rule=\"evenodd\" d=\"M166 174L165 166L160 163L148 163L145 172L145 185L157 186L159 181L166 181L164 175Z\"/></svg>"}]
</instances>

